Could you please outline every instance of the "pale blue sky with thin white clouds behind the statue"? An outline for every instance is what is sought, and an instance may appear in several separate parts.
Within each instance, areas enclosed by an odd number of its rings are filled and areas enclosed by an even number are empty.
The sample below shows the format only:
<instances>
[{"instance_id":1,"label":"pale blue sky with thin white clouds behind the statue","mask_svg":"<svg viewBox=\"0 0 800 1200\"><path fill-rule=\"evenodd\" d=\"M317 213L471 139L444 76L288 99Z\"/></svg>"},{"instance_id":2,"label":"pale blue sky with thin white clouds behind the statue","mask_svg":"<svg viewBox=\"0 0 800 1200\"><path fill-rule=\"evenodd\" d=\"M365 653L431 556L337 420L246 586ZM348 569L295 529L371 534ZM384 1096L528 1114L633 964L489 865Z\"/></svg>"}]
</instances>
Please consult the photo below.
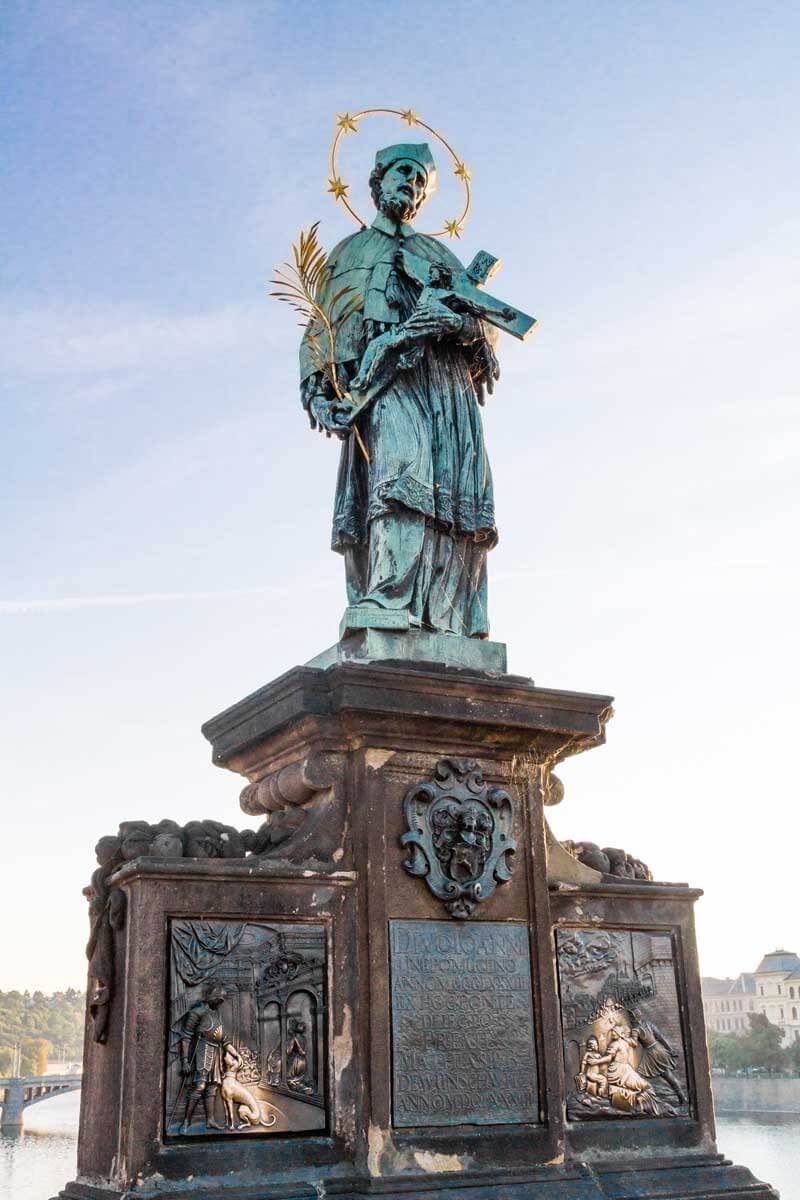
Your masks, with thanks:
<instances>
[{"instance_id":1,"label":"pale blue sky with thin white clouds behind the statue","mask_svg":"<svg viewBox=\"0 0 800 1200\"><path fill-rule=\"evenodd\" d=\"M615 697L554 832L704 888L705 973L800 950L799 43L770 0L5 0L0 988L84 985L121 820L257 823L199 726L336 641L337 444L267 293L353 232L367 107L456 148L450 245L540 322L485 410L492 636ZM365 211L407 136L345 140Z\"/></svg>"}]
</instances>

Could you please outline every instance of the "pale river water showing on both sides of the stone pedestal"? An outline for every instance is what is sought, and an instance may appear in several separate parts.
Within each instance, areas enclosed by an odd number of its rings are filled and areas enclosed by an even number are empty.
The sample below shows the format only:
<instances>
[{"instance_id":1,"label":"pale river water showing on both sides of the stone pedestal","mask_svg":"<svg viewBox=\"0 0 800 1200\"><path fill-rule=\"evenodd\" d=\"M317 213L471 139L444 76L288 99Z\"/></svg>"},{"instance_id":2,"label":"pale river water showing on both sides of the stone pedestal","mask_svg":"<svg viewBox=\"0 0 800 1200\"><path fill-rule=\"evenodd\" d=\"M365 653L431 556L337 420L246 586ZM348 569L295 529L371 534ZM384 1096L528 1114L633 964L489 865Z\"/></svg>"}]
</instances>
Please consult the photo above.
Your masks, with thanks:
<instances>
[{"instance_id":1,"label":"pale river water showing on both sides of the stone pedestal","mask_svg":"<svg viewBox=\"0 0 800 1200\"><path fill-rule=\"evenodd\" d=\"M50 1200L74 1178L80 1096L71 1092L25 1112L20 1138L0 1138L2 1200ZM718 1116L720 1150L769 1180L781 1200L800 1200L800 1115Z\"/></svg>"}]
</instances>

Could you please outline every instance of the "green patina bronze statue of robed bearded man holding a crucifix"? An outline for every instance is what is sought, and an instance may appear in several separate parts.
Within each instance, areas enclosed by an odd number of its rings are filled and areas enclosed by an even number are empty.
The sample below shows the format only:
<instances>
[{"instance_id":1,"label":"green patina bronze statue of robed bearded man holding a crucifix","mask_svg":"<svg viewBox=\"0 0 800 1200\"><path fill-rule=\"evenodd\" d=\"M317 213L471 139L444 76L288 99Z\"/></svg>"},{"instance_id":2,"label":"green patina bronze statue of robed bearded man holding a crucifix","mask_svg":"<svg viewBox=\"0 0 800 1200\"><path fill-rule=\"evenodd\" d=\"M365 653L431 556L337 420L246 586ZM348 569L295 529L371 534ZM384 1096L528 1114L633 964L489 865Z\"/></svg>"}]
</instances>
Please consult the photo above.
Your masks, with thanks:
<instances>
[{"instance_id":1,"label":"green patina bronze statue of robed bearded man holding a crucifix","mask_svg":"<svg viewBox=\"0 0 800 1200\"><path fill-rule=\"evenodd\" d=\"M319 293L323 308L342 289L355 302L332 354L311 322L301 395L312 427L343 439L332 530L345 560L343 628L487 637L486 556L498 532L480 406L499 377L492 325L524 336L534 322L491 296L481 302L492 256L464 271L414 229L435 184L426 144L378 151L378 215L331 252ZM333 383L319 370L320 340Z\"/></svg>"}]
</instances>

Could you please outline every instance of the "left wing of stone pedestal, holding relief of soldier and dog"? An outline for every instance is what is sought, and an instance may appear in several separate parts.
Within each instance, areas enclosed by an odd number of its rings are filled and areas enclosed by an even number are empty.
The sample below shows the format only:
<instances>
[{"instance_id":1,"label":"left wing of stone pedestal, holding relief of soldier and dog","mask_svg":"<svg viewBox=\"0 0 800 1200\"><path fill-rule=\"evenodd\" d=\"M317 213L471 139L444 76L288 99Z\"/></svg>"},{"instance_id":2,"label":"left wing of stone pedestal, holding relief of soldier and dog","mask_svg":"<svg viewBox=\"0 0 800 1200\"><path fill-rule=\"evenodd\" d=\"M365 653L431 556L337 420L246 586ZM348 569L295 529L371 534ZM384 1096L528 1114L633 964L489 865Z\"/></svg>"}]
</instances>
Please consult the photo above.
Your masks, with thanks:
<instances>
[{"instance_id":1,"label":"left wing of stone pedestal, holding relief of soldier and dog","mask_svg":"<svg viewBox=\"0 0 800 1200\"><path fill-rule=\"evenodd\" d=\"M357 978L351 970L357 958L353 872L309 870L257 859L142 858L126 863L110 887L125 893L128 910L126 926L116 935L120 940L119 985L112 1002L107 1044L91 1040L85 1044L79 1177L65 1194L94 1196L91 1181L102 1181L101 1194L107 1200L126 1194L134 1181L140 1180L137 1194L142 1188L145 1195L176 1190L182 1196L187 1194L186 1181L193 1177L198 1193L205 1196L207 1188L216 1183L222 1186L231 1170L241 1172L241 1194L246 1194L248 1183L264 1180L267 1146L269 1171L273 1180L296 1169L317 1178L317 1171L327 1174L337 1163L351 1163L354 1072L357 1066L351 1044L357 1004ZM302 913L301 920L297 913ZM269 1096L266 1091L261 1096L257 1088L259 1099L281 1110L283 1128L276 1129L273 1136L259 1135L269 1135L270 1127L212 1130L213 1136L206 1135L203 1100L192 1115L190 1129L180 1130L178 1118L186 1116L186 1092L179 1090L175 1050L180 1056L176 1039L184 1030L179 1015L182 1006L178 998L181 980L175 974L170 918L173 928L175 920L200 923L216 932L254 924L270 931L267 940L276 948L277 938L271 931L285 932L283 949L289 960L299 953L314 960L320 954L327 955L330 974L336 980L336 1004L335 1010L326 1001L317 1006L317 1049L323 1060L317 1063L320 1069L314 1069L307 1046L305 1074L311 1080L312 1092L297 1099L305 1102L306 1127L311 1123L308 1100L317 1102L311 1106L318 1117L314 1120L317 1128L309 1129L303 1138L287 1128L287 1120L283 1120L288 1118L294 1100L293 1088L288 1086L293 1060L294 1074L301 1074L296 1067L297 1055L290 1045L282 1049L283 1079L271 1085ZM308 930L307 946L299 949L302 929ZM323 931L321 941L319 930ZM267 1004L276 998L272 984L284 978L281 953L264 954L255 944L248 949L249 936L242 949L241 941L231 954L221 956L207 978L219 980L225 990L225 1000L218 1009L219 1021L234 1044L269 1051L266 1034L259 1044L253 1016L255 1020L259 1014L269 1018ZM124 972L119 964L125 964ZM255 972L259 964L260 971ZM278 973L267 977L270 965L275 965ZM290 985L283 989L287 1008L296 990L307 995L315 990L321 1001L324 983L315 964L287 982ZM295 982L305 986L296 989ZM168 996L175 1007L166 1003ZM187 996L190 1008L198 998L198 989L192 985ZM294 1008L293 1004L288 1015L299 1016ZM263 1068L259 1079L269 1086L267 1063L259 1066ZM300 1124L299 1111L291 1103L295 1126ZM219 1124L225 1122L221 1094L215 1099L211 1115ZM264 1115L269 1118L270 1110L265 1108ZM85 1186L82 1181L86 1181ZM188 1194L192 1194L191 1188Z\"/></svg>"}]
</instances>

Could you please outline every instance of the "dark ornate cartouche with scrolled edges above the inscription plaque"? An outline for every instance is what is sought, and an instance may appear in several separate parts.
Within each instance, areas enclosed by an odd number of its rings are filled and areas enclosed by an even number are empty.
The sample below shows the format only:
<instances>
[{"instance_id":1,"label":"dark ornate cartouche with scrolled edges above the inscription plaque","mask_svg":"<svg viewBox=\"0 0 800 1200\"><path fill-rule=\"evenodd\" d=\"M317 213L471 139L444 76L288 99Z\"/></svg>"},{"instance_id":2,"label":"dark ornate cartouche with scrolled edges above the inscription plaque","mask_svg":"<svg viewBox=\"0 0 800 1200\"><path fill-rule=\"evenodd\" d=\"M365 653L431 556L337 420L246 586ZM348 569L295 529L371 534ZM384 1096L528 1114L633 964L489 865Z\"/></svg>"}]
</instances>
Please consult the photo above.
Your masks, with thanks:
<instances>
[{"instance_id":1,"label":"dark ornate cartouche with scrolled edges above the inscription plaque","mask_svg":"<svg viewBox=\"0 0 800 1200\"><path fill-rule=\"evenodd\" d=\"M404 811L403 866L425 878L451 917L470 917L479 901L511 878L511 797L489 787L474 760L441 758L433 779L408 790Z\"/></svg>"}]
</instances>

